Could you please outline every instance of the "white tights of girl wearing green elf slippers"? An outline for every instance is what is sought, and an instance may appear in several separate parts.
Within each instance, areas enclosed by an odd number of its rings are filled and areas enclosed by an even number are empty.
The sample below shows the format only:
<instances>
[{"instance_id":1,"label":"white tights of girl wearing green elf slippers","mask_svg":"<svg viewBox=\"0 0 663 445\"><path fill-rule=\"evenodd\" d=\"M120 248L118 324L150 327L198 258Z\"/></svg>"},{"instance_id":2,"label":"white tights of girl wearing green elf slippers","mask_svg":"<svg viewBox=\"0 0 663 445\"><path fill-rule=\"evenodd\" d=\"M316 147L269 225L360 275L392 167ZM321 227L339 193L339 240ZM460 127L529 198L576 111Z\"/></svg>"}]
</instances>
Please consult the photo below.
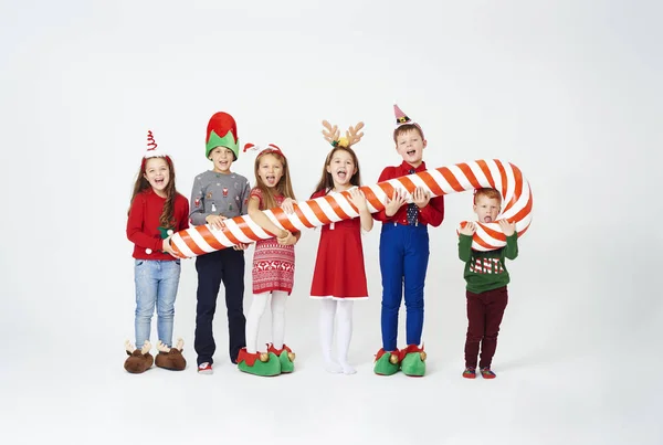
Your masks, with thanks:
<instances>
[{"instance_id":1,"label":"white tights of girl wearing green elf slippers","mask_svg":"<svg viewBox=\"0 0 663 445\"><path fill-rule=\"evenodd\" d=\"M260 320L262 319L267 300L272 294L272 342L274 348L283 348L285 337L285 299L287 293L283 290L272 290L264 294L254 294L249 316L246 317L246 352L257 352L257 332L260 330Z\"/></svg>"}]
</instances>

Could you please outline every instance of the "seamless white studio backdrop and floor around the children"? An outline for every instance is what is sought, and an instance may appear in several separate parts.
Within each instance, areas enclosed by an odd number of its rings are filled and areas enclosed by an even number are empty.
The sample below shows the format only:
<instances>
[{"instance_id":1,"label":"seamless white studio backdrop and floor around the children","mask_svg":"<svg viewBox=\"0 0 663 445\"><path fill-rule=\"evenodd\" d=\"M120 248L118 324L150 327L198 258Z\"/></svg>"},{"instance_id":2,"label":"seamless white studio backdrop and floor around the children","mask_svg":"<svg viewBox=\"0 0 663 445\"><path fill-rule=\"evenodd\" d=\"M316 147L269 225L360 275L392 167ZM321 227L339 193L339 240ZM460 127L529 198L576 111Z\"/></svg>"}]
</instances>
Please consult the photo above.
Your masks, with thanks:
<instances>
[{"instance_id":1,"label":"seamless white studio backdrop and floor around the children","mask_svg":"<svg viewBox=\"0 0 663 445\"><path fill-rule=\"evenodd\" d=\"M7 443L114 443L140 431L161 444L661 443L662 13L655 1L598 0L0 2L0 425L15 437ZM230 367L220 298L217 372L197 375L191 259L176 311L189 369L126 374L126 211L147 129L189 198L211 166L207 121L228 112L242 144L283 148L306 199L329 149L323 119L366 123L365 183L400 162L393 100L422 125L429 167L499 158L532 183L498 379L460 377L454 230L472 216L470 193L449 195L444 223L430 231L424 379L372 375L379 224L364 237L371 295L355 305L358 374L319 365L318 305L307 297L314 231L297 245L288 301L297 372L256 380ZM241 156L234 170L253 183L252 162Z\"/></svg>"}]
</instances>

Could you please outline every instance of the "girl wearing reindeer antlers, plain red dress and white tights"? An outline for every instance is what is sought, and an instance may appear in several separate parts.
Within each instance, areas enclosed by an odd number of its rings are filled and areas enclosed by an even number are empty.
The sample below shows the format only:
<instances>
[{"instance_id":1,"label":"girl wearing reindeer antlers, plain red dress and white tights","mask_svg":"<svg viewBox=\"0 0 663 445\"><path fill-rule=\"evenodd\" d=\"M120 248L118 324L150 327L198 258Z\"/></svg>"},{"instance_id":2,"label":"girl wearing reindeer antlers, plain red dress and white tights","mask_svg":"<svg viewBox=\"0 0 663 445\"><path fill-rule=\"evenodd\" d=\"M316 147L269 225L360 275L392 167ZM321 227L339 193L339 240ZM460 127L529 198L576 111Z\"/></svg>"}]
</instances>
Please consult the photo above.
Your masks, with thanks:
<instances>
[{"instance_id":1,"label":"girl wearing reindeer antlers, plain red dress and white tights","mask_svg":"<svg viewBox=\"0 0 663 445\"><path fill-rule=\"evenodd\" d=\"M348 363L348 349L352 337L352 301L368 298L361 230L369 232L373 220L368 211L366 198L358 189L361 184L359 161L352 150L352 144L364 136L350 127L346 138L339 137L336 126L324 121L325 139L334 147L325 159L323 174L315 193L319 198L326 194L349 191L350 202L357 208L359 218L335 222L323 226L318 245L311 298L320 299L320 342L325 359L325 370L333 373L354 374L355 368ZM338 318L338 360L332 354L334 337L334 317Z\"/></svg>"}]
</instances>

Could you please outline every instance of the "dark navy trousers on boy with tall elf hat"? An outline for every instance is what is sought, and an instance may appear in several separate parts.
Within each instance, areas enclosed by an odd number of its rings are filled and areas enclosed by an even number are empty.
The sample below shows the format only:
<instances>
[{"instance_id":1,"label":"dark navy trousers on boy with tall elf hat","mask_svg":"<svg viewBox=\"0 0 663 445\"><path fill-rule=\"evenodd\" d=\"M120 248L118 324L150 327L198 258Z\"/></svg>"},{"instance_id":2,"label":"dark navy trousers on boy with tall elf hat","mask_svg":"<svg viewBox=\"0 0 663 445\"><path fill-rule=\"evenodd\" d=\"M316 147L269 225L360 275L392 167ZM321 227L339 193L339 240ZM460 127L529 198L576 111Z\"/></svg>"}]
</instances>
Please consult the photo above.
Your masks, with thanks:
<instances>
[{"instance_id":1,"label":"dark navy trousers on boy with tall elf hat","mask_svg":"<svg viewBox=\"0 0 663 445\"><path fill-rule=\"evenodd\" d=\"M217 296L223 282L228 309L230 360L235 363L240 349L246 346L244 318L244 252L231 247L200 255L196 258L198 292L196 306L196 338L193 347L198 364L214 360L217 350L212 321L217 311Z\"/></svg>"}]
</instances>

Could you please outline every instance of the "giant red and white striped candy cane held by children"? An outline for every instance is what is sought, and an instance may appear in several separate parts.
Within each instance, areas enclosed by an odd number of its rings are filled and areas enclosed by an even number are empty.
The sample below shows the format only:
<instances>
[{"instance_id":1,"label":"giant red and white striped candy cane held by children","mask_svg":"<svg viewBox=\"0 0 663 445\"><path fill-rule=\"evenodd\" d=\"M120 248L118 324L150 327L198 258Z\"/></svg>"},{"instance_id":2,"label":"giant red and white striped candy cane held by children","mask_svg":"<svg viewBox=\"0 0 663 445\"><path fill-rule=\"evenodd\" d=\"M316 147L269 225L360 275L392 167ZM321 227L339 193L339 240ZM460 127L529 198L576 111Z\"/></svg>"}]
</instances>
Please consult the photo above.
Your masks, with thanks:
<instances>
[{"instance_id":1,"label":"giant red and white striped candy cane held by children","mask_svg":"<svg viewBox=\"0 0 663 445\"><path fill-rule=\"evenodd\" d=\"M497 159L440 167L375 186L364 186L361 191L368 201L368 210L375 213L385 209L387 198L391 198L396 188L411 194L417 187L422 187L432 197L492 187L502 194L499 218L514 221L518 236L527 231L532 222L529 182L516 166ZM280 208L265 210L264 213L278 227L291 232L359 216L357 209L349 201L347 191L301 202L290 215ZM255 224L249 215L225 220L224 223L222 230L206 224L177 232L170 239L170 245L177 256L185 258L273 236ZM461 226L464 224L465 222L462 222ZM492 251L505 244L506 237L497 223L477 223L472 248Z\"/></svg>"}]
</instances>

